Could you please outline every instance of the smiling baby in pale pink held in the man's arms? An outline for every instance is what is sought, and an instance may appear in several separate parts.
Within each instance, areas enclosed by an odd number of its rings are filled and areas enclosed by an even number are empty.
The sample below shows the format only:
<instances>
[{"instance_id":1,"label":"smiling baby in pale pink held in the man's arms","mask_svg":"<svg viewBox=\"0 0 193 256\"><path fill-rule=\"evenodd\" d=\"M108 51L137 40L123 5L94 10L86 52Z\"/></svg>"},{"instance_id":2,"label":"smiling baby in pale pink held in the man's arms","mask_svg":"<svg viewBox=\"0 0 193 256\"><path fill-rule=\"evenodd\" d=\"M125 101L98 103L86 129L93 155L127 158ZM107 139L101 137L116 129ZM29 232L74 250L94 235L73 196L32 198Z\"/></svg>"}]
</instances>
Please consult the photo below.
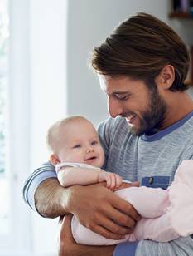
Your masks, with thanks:
<instances>
[{"instance_id":1,"label":"smiling baby in pale pink held in the man's arms","mask_svg":"<svg viewBox=\"0 0 193 256\"><path fill-rule=\"evenodd\" d=\"M84 117L71 116L57 121L48 130L47 143L60 185L91 185L106 181L107 187L114 190L122 184L119 175L101 169L104 150L94 126ZM71 229L75 241L90 245L118 244L139 239L167 242L192 234L192 183L193 160L184 160L167 190L141 186L115 191L142 215L133 233L121 240L106 239L85 228L74 216Z\"/></svg>"}]
</instances>

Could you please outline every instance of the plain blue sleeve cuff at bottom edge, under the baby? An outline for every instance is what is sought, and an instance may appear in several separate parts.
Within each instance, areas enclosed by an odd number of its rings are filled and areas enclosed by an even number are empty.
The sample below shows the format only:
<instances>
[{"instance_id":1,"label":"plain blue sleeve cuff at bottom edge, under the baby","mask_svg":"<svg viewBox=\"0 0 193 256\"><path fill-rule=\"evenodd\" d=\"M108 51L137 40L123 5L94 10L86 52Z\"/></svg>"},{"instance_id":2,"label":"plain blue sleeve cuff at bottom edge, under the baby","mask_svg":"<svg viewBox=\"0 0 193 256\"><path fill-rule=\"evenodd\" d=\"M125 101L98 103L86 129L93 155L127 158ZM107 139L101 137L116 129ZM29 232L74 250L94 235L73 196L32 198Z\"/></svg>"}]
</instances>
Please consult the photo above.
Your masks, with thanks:
<instances>
[{"instance_id":1,"label":"plain blue sleeve cuff at bottom edge, under the baby","mask_svg":"<svg viewBox=\"0 0 193 256\"><path fill-rule=\"evenodd\" d=\"M113 251L113 256L135 256L137 246L138 241L118 244Z\"/></svg>"}]
</instances>

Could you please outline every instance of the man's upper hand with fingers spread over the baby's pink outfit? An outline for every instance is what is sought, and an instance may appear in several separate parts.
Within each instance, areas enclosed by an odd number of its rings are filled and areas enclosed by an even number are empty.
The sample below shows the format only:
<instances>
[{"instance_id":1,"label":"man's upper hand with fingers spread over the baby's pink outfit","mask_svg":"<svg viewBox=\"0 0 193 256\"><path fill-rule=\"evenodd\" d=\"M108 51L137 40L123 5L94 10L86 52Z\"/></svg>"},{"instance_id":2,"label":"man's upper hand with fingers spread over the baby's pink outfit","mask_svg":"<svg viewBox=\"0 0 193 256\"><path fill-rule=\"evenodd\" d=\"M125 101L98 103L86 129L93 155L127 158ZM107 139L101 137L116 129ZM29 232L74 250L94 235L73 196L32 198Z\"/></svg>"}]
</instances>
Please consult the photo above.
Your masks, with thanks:
<instances>
[{"instance_id":1,"label":"man's upper hand with fingers spread over the baby's pink outfit","mask_svg":"<svg viewBox=\"0 0 193 256\"><path fill-rule=\"evenodd\" d=\"M123 239L125 234L133 232L140 216L132 204L104 186L73 186L68 212L74 214L80 224L105 238Z\"/></svg>"}]
</instances>

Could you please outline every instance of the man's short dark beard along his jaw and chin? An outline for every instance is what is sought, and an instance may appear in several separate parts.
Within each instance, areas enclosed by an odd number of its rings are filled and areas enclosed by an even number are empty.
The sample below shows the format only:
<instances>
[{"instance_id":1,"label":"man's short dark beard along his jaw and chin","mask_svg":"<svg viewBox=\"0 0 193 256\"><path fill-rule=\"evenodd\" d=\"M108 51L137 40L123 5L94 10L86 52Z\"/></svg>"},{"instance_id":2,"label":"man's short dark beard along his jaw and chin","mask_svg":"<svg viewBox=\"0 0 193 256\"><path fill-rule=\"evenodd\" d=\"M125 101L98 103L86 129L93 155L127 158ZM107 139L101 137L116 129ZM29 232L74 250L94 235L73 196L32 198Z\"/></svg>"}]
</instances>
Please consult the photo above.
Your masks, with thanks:
<instances>
[{"instance_id":1,"label":"man's short dark beard along his jaw and chin","mask_svg":"<svg viewBox=\"0 0 193 256\"><path fill-rule=\"evenodd\" d=\"M152 130L159 130L162 127L162 122L165 119L167 106L166 101L159 95L157 87L149 91L149 99L147 110L142 112L142 117L139 119L139 127L131 126L131 132L134 135L151 134Z\"/></svg>"}]
</instances>

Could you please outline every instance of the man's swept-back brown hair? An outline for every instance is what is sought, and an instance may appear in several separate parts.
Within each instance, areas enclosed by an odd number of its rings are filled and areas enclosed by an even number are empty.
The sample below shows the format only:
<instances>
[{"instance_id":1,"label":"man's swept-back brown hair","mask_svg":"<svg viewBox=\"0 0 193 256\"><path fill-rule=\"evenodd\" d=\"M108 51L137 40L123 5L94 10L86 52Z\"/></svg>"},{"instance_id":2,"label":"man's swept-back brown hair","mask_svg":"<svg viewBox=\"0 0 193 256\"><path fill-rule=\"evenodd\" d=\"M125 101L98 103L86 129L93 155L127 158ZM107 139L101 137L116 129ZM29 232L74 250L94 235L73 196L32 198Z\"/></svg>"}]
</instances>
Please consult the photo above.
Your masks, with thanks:
<instances>
[{"instance_id":1,"label":"man's swept-back brown hair","mask_svg":"<svg viewBox=\"0 0 193 256\"><path fill-rule=\"evenodd\" d=\"M94 48L91 65L100 74L130 76L153 86L155 77L170 64L175 69L171 91L184 91L189 62L181 37L157 17L139 12Z\"/></svg>"}]
</instances>

